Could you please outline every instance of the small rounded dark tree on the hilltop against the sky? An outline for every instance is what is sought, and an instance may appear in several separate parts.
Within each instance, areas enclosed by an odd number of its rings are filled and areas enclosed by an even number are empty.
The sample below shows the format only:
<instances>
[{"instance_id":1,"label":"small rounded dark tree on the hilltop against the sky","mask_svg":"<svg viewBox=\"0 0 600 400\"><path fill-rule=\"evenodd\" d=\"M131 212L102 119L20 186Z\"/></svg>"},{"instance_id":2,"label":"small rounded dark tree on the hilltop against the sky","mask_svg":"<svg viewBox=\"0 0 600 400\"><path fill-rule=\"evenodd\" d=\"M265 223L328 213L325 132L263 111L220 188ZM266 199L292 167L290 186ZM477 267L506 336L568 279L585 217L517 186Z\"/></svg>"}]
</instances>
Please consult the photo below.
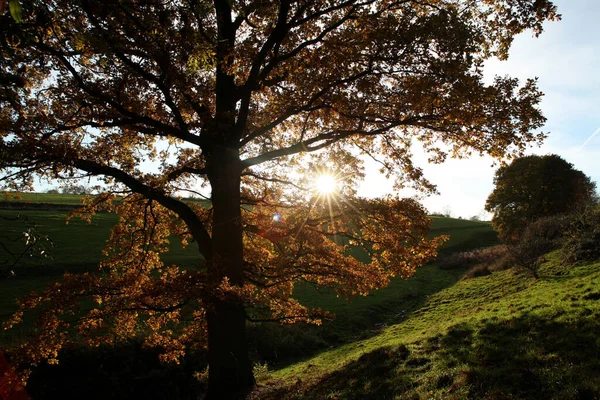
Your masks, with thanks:
<instances>
[{"instance_id":1,"label":"small rounded dark tree on the hilltop against the sky","mask_svg":"<svg viewBox=\"0 0 600 400\"><path fill-rule=\"evenodd\" d=\"M485 209L500 238L516 242L541 217L568 213L589 203L596 184L555 154L527 156L501 167Z\"/></svg>"}]
</instances>

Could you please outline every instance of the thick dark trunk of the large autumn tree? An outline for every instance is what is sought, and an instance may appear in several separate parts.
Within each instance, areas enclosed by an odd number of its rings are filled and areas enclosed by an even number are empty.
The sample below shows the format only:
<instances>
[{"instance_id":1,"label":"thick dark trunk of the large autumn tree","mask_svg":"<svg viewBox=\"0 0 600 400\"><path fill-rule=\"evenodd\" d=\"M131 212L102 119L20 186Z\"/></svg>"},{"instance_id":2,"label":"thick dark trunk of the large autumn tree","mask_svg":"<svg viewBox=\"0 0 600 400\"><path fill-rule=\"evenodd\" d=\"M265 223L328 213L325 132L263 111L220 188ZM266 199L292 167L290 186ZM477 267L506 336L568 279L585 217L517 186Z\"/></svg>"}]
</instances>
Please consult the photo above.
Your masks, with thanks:
<instances>
[{"instance_id":1,"label":"thick dark trunk of the large autumn tree","mask_svg":"<svg viewBox=\"0 0 600 400\"><path fill-rule=\"evenodd\" d=\"M227 277L244 283L240 209L240 159L237 148L219 147L211 154L209 179L213 201L213 259L210 280ZM254 387L246 341L244 304L233 296L215 297L207 310L208 393L206 398L243 399Z\"/></svg>"}]
</instances>

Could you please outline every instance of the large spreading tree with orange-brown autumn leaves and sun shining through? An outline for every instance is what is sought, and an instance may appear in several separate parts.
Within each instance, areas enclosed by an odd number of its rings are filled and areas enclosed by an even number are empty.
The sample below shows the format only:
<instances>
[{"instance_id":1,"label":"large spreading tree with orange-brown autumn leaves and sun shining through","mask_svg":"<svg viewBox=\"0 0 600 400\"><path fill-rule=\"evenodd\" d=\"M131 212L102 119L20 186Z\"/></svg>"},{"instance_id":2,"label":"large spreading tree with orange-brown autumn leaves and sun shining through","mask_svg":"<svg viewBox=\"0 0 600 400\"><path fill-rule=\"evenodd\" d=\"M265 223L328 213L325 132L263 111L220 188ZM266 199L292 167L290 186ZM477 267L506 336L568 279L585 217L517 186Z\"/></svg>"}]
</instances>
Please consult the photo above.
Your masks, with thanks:
<instances>
[{"instance_id":1,"label":"large spreading tree with orange-brown autumn leaves and sun shining through","mask_svg":"<svg viewBox=\"0 0 600 400\"><path fill-rule=\"evenodd\" d=\"M254 384L247 319L321 320L291 297L297 282L366 294L434 256L421 206L356 197L363 157L398 187L433 191L413 141L442 162L543 139L535 81L486 85L482 65L559 17L548 0L32 0L22 13L0 28L1 74L14 78L0 95L4 181L94 176L105 193L79 212L120 215L107 275L24 301L51 305L24 353L54 359L64 315L88 296L98 308L78 329L90 344L143 329L165 359L207 346L209 398ZM326 173L329 195L312 182ZM195 184L210 207L177 197ZM197 268L162 264L172 237L197 246Z\"/></svg>"}]
</instances>

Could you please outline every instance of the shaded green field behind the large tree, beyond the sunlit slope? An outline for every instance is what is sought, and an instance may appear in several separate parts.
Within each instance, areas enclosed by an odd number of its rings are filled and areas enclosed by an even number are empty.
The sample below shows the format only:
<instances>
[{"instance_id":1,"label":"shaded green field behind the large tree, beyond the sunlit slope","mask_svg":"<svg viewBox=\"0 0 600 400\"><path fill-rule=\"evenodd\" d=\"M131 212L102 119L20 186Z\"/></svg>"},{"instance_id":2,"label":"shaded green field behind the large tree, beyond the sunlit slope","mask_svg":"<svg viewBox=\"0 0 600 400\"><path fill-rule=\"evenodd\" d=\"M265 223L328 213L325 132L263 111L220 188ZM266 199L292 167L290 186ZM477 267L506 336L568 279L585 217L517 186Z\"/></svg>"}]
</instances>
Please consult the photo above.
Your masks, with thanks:
<instances>
[{"instance_id":1,"label":"shaded green field behind the large tree, beyond the sunlit slope","mask_svg":"<svg viewBox=\"0 0 600 400\"><path fill-rule=\"evenodd\" d=\"M77 195L35 195L27 194L24 199L46 201L49 204L68 201L74 204L75 200L79 202L81 199L81 196ZM14 278L0 280L0 320L6 320L15 311L16 298L59 280L65 272L96 270L103 257L101 252L110 228L116 222L116 216L108 213L99 213L91 224L76 218L66 224L68 211L2 210L0 215L9 217L0 218L0 230L6 237L20 236L25 227L24 223L11 219L17 215L25 215L29 223L35 225L38 233L47 235L54 244L49 249L52 259L43 260L42 265L40 260L26 258L15 267ZM442 254L447 253L448 249L470 249L473 246L482 247L497 242L489 223L433 217L431 235L440 234L450 235L449 242L441 250ZM21 242L7 245L18 247ZM0 254L0 257L5 257L4 260L0 259L0 262L8 261L6 254ZM164 254L163 260L169 264L194 265L198 262L198 254L193 244L184 249L174 240L171 251ZM317 291L308 285L299 285L295 297L310 307L322 307L337 314L336 321L327 322L325 329L317 333L319 337L324 336L325 340L313 349L314 352L331 343L345 343L357 336L370 335L374 324L391 323L402 318L396 311L398 307L405 310L404 312L414 309L422 304L427 295L454 284L460 274L460 271L444 271L429 265L420 268L408 281L394 279L387 288L350 302L337 298L330 292ZM306 354L312 352L302 353Z\"/></svg>"}]
</instances>

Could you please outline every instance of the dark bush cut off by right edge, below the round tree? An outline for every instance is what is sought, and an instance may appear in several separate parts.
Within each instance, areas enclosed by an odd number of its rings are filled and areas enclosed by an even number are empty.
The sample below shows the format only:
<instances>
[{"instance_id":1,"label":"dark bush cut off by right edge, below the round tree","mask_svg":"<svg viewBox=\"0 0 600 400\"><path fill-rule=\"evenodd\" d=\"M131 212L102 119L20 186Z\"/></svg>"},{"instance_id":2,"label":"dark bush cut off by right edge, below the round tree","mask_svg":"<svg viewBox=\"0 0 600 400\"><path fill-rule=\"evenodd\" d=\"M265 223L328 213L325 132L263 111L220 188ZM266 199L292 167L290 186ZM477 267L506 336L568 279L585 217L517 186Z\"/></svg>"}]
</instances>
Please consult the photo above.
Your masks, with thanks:
<instances>
[{"instance_id":1,"label":"dark bush cut off by right edge, below the round tree","mask_svg":"<svg viewBox=\"0 0 600 400\"><path fill-rule=\"evenodd\" d=\"M577 264L600 259L600 206L574 214L563 246L562 261Z\"/></svg>"}]
</instances>

